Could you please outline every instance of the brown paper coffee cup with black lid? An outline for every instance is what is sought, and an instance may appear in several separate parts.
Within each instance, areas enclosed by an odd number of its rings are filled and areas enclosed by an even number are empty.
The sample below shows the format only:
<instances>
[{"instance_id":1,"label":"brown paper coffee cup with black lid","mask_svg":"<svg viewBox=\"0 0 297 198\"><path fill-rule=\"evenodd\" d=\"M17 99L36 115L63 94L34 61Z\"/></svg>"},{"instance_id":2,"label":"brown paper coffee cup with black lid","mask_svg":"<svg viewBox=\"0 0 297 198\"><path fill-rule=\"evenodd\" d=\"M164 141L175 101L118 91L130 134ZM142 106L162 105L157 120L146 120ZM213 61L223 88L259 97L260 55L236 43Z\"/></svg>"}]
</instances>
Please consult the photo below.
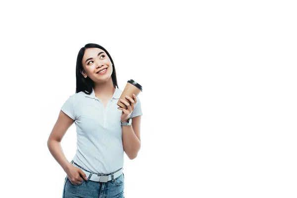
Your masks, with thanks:
<instances>
[{"instance_id":1,"label":"brown paper coffee cup with black lid","mask_svg":"<svg viewBox=\"0 0 297 198\"><path fill-rule=\"evenodd\" d=\"M120 99L123 99L124 101L127 101L129 104L131 104L130 100L126 99L125 96L129 96L132 99L134 99L133 94L135 94L135 96L138 96L142 92L142 90L143 88L140 84L138 84L132 79L128 80L126 87L123 90L122 95L120 96ZM120 99L116 104L124 109L127 109L127 106L123 102L121 102Z\"/></svg>"}]
</instances>

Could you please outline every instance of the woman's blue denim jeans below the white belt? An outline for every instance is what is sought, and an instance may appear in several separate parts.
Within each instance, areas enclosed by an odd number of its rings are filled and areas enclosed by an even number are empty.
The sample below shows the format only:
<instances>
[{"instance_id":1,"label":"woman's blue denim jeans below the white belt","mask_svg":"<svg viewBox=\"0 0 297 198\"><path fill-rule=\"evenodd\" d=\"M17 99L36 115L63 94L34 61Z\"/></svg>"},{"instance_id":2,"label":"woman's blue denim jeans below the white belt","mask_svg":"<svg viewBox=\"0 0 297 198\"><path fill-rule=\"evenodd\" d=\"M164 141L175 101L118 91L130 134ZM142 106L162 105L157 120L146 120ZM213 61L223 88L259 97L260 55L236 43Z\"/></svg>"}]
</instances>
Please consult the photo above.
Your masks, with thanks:
<instances>
[{"instance_id":1,"label":"woman's blue denim jeans below the white belt","mask_svg":"<svg viewBox=\"0 0 297 198\"><path fill-rule=\"evenodd\" d=\"M80 166L79 168L87 171ZM99 173L93 174L99 175ZM90 174L89 178L91 176L92 174ZM83 180L80 184L73 185L66 175L62 198L125 198L124 173L122 173L117 178L114 178L114 180L110 180L106 183L94 182L89 180L89 178L87 181Z\"/></svg>"}]
</instances>

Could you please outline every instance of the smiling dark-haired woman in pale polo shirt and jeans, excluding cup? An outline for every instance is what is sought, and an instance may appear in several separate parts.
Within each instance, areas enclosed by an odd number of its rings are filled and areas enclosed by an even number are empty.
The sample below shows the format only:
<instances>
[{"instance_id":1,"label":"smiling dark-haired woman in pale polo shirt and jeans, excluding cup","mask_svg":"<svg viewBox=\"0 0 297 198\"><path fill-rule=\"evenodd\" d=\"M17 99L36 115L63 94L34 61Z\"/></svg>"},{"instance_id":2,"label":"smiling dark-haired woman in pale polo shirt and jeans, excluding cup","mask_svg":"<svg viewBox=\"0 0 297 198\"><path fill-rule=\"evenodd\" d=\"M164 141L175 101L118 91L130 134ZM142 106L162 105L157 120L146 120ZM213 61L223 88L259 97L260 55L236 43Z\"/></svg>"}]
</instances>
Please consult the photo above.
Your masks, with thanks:
<instances>
[{"instance_id":1,"label":"smiling dark-haired woman in pale polo shirt and jeans, excluding cup","mask_svg":"<svg viewBox=\"0 0 297 198\"><path fill-rule=\"evenodd\" d=\"M124 151L134 159L141 147L142 109L135 95L126 97L130 103L121 101L127 109L118 107L121 94L107 50L97 44L80 49L76 93L62 105L48 140L50 153L67 174L63 198L124 198ZM69 162L60 142L73 122L77 150Z\"/></svg>"}]
</instances>

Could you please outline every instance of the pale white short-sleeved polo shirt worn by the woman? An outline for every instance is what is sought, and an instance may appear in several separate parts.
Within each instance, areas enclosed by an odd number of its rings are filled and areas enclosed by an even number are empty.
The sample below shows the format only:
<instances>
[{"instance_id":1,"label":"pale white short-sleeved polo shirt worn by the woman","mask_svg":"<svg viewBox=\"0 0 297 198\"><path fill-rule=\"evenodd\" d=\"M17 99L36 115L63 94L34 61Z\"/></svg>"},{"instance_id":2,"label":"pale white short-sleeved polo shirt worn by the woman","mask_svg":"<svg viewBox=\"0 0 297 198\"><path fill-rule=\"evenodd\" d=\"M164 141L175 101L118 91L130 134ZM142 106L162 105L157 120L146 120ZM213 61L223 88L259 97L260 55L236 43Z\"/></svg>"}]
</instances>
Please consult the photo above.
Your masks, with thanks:
<instances>
[{"instance_id":1,"label":"pale white short-sleeved polo shirt worn by the woman","mask_svg":"<svg viewBox=\"0 0 297 198\"><path fill-rule=\"evenodd\" d=\"M108 174L123 167L122 110L116 104L122 92L116 87L105 109L94 89L91 95L84 92L71 95L61 107L75 120L77 150L73 161L86 170ZM142 115L142 109L137 97L131 118L138 115Z\"/></svg>"}]
</instances>

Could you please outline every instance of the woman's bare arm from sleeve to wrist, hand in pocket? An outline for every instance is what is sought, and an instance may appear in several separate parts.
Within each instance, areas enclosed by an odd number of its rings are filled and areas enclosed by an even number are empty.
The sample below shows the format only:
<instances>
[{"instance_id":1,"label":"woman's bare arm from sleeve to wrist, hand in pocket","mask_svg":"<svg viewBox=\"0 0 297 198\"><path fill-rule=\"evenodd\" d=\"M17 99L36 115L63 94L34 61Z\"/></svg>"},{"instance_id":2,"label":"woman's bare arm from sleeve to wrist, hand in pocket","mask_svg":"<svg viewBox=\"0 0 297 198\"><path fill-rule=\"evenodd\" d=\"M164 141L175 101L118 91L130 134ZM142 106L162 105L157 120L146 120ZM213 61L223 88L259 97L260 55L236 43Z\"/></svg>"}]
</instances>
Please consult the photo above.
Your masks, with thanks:
<instances>
[{"instance_id":1,"label":"woman's bare arm from sleeve to wrist, hand in pocket","mask_svg":"<svg viewBox=\"0 0 297 198\"><path fill-rule=\"evenodd\" d=\"M58 119L53 126L53 129L49 135L48 148L53 158L60 164L60 166L66 172L72 165L65 157L61 148L61 140L64 137L68 128L74 123L74 120L60 110Z\"/></svg>"}]
</instances>

